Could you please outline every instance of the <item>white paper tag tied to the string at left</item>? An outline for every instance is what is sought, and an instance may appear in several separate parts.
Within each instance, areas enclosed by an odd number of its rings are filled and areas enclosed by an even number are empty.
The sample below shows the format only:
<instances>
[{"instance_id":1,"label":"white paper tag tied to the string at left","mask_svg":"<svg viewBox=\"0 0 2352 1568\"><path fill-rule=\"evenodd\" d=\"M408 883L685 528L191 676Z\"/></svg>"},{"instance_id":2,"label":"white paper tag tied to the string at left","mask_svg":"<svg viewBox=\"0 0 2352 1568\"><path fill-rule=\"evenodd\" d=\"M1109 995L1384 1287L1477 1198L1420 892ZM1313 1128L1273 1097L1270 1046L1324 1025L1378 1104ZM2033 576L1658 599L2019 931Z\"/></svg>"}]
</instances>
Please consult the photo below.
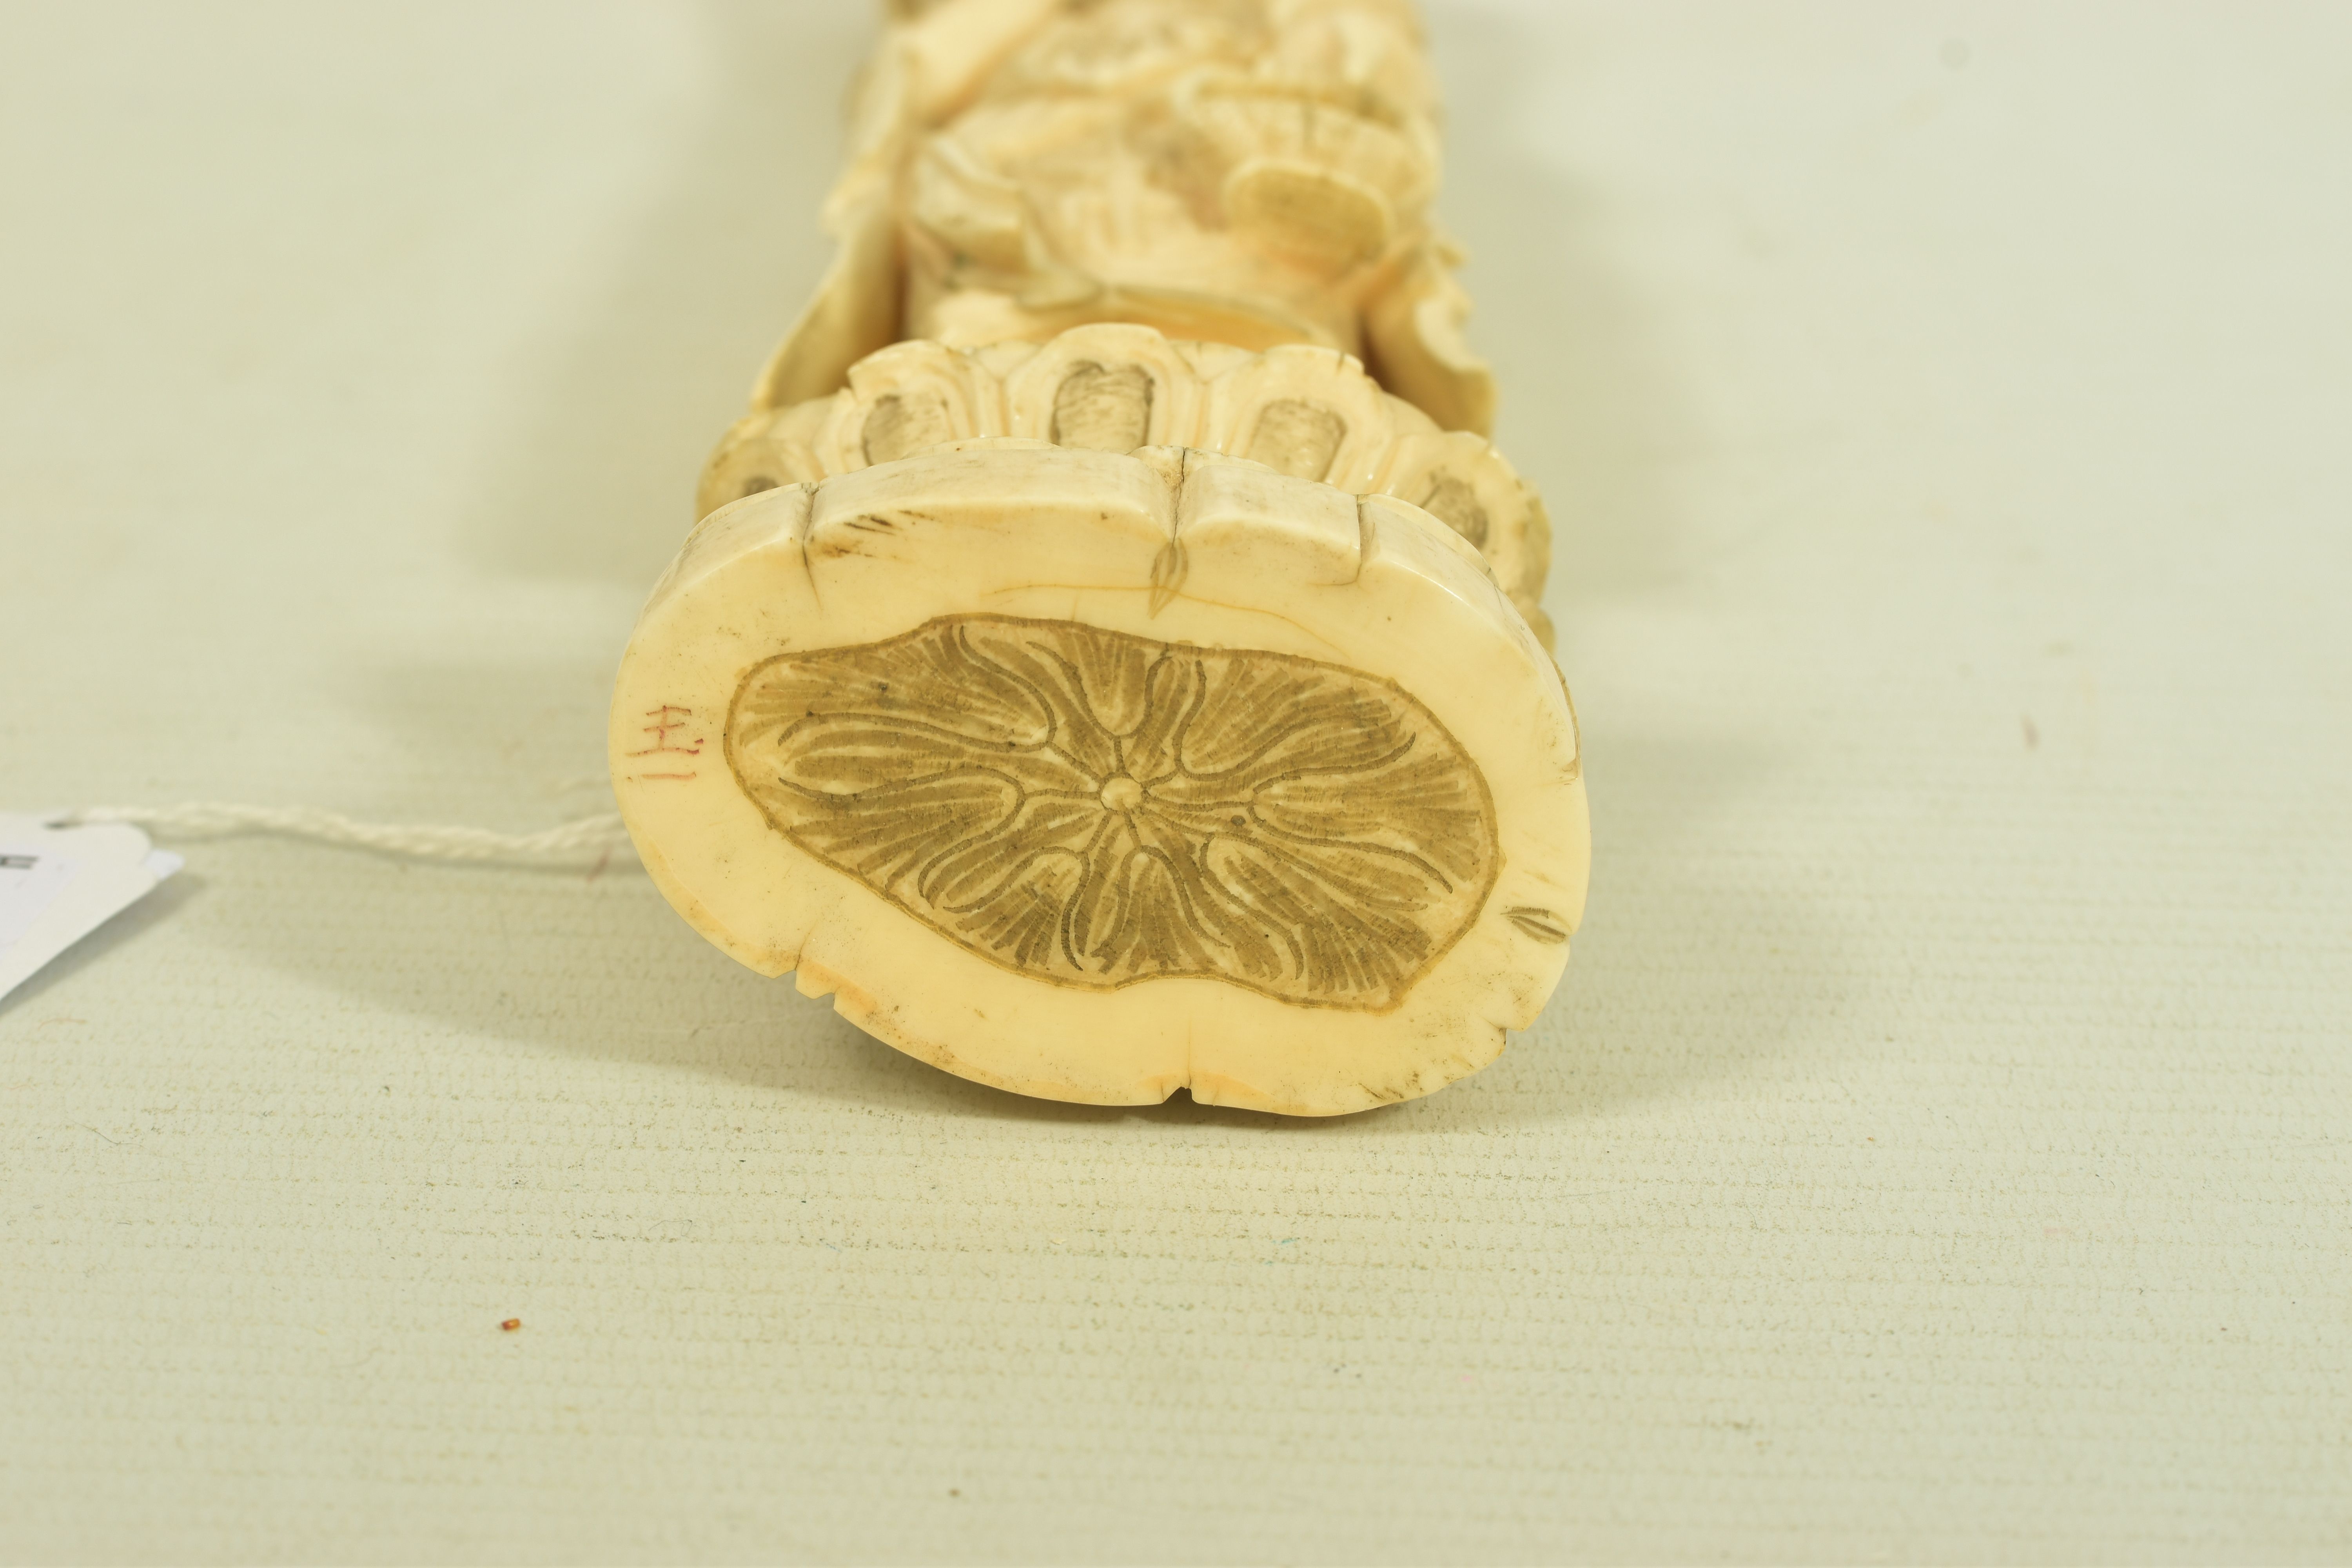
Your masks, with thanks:
<instances>
[{"instance_id":1,"label":"white paper tag tied to the string at left","mask_svg":"<svg viewBox=\"0 0 2352 1568\"><path fill-rule=\"evenodd\" d=\"M155 891L183 860L122 823L0 816L0 997Z\"/></svg>"}]
</instances>

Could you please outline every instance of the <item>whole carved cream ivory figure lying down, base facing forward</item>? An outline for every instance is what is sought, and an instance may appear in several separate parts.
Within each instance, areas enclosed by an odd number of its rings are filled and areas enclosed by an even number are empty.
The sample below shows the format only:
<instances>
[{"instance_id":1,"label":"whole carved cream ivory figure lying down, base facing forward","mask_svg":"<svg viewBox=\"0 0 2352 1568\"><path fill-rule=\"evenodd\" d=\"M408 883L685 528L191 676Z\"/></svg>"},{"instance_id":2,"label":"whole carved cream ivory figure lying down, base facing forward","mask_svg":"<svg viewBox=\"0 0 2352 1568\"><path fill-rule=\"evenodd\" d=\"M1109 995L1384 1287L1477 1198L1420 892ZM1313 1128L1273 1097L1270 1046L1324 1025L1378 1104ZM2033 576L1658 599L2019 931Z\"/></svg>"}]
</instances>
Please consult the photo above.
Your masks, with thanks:
<instances>
[{"instance_id":1,"label":"whole carved cream ivory figure lying down, base facing forward","mask_svg":"<svg viewBox=\"0 0 2352 1568\"><path fill-rule=\"evenodd\" d=\"M1534 1023L1583 769L1432 120L1406 0L891 5L619 677L703 936L1098 1105L1355 1112Z\"/></svg>"}]
</instances>

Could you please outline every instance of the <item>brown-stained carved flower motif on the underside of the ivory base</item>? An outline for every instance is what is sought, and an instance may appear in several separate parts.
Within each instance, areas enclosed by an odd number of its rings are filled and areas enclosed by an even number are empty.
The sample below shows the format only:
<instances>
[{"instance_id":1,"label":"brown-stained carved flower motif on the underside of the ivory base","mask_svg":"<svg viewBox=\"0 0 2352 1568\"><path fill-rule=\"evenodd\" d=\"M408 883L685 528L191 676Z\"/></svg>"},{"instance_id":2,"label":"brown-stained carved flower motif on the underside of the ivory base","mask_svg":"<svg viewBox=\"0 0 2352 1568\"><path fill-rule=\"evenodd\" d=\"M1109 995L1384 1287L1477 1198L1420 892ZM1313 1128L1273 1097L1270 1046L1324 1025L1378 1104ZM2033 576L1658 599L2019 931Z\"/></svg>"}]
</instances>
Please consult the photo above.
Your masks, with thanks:
<instances>
[{"instance_id":1,"label":"brown-stained carved flower motif on the underside of the ivory base","mask_svg":"<svg viewBox=\"0 0 2352 1568\"><path fill-rule=\"evenodd\" d=\"M1388 1009L1498 860L1484 776L1392 682L1068 621L771 658L727 757L793 844L1061 985Z\"/></svg>"}]
</instances>

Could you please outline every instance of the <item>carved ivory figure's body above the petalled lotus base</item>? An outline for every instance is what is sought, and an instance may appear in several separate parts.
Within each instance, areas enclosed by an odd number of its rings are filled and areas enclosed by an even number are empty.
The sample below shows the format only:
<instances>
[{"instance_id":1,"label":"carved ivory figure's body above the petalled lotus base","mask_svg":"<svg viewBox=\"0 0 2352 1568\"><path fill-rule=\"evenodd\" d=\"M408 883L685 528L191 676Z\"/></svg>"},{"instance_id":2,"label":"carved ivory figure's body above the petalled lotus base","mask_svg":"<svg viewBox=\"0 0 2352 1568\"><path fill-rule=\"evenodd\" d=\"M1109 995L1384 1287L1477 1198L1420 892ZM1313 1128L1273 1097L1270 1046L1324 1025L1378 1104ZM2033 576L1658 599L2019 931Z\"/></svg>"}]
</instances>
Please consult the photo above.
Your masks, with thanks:
<instances>
[{"instance_id":1,"label":"carved ivory figure's body above the petalled lotus base","mask_svg":"<svg viewBox=\"0 0 2352 1568\"><path fill-rule=\"evenodd\" d=\"M1435 122L1406 0L898 7L828 205L842 256L760 404L826 395L898 339L1138 322L1334 348L1486 433L1461 252L1430 223Z\"/></svg>"}]
</instances>

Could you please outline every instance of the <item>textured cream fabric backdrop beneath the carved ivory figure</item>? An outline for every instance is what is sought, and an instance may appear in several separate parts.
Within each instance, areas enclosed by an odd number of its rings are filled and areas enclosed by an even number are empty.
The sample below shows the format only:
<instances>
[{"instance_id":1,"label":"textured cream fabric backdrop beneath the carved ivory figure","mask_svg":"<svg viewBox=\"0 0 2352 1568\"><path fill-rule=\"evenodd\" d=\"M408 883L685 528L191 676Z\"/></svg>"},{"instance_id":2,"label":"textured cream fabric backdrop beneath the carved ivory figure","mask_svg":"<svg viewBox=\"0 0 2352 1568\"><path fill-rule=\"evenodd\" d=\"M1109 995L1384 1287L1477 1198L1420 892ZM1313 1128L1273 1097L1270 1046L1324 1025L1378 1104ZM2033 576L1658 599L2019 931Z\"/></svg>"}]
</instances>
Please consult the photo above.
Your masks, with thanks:
<instances>
[{"instance_id":1,"label":"textured cream fabric backdrop beneath the carved ivory figure","mask_svg":"<svg viewBox=\"0 0 2352 1568\"><path fill-rule=\"evenodd\" d=\"M0 24L0 802L604 809L866 14ZM181 844L0 1004L0 1559L2352 1556L2352 9L1432 33L1543 1025L1035 1105L630 870Z\"/></svg>"}]
</instances>

